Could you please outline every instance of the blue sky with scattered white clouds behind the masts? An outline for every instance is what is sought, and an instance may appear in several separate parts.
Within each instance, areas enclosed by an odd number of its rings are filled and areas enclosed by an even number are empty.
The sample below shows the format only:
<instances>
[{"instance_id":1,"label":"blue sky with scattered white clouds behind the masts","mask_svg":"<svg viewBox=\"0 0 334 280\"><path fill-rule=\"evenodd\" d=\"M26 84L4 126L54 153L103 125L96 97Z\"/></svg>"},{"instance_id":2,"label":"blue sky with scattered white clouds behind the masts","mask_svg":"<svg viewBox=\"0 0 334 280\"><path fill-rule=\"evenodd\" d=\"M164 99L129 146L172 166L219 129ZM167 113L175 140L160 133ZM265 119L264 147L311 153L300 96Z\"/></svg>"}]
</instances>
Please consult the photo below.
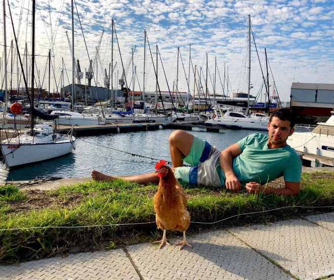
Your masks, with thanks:
<instances>
[{"instance_id":1,"label":"blue sky with scattered white clouds behind the masts","mask_svg":"<svg viewBox=\"0 0 334 280\"><path fill-rule=\"evenodd\" d=\"M25 43L28 53L31 54L31 5L31 1L28 0L10 1L22 59L24 59ZM21 74L17 75L15 49L11 66L10 45L14 35L7 3L6 14L8 69L13 73L10 74L9 80L15 88L18 76L20 79ZM56 91L57 87L60 87L62 69L66 69L65 85L71 83L71 52L65 33L68 31L71 40L71 2L36 0L35 15L35 71L39 74L37 83L48 90L47 56L51 49L50 84L51 91ZM94 63L94 75L98 85L104 84L104 76L101 75L104 69L109 75L111 54L113 54L114 87L124 68L128 87L133 88L134 65L135 90L143 90L144 30L146 30L149 46L146 40L145 92L154 91L156 87L154 72L156 45L159 49L157 72L161 91L169 89L172 91L173 88L175 90L178 84L180 92L189 90L193 94L195 89L195 95L198 93L198 86L202 87L204 92L207 87L210 93L213 93L215 88L217 95L223 92L229 95L233 92L246 92L248 15L251 15L252 26L251 94L258 96L258 101L264 101L265 96L265 88L262 86L263 75L267 75L265 49L268 57L270 94L272 95L275 88L281 101L289 101L293 82L334 84L334 2L326 0L76 0L74 56L80 61L81 71L85 72L85 68L89 67L89 58L96 57L96 47L101 42L99 55ZM117 40L114 34L113 51L112 19L117 34ZM3 17L1 26L0 75L3 81ZM101 39L102 30L104 33ZM135 50L134 63L132 63L132 49ZM28 70L28 78L30 71L31 69ZM92 85L96 84L96 79L92 81ZM201 85L198 85L199 80ZM81 84L85 83L84 77L81 79ZM20 85L22 87L22 82Z\"/></svg>"}]
</instances>

